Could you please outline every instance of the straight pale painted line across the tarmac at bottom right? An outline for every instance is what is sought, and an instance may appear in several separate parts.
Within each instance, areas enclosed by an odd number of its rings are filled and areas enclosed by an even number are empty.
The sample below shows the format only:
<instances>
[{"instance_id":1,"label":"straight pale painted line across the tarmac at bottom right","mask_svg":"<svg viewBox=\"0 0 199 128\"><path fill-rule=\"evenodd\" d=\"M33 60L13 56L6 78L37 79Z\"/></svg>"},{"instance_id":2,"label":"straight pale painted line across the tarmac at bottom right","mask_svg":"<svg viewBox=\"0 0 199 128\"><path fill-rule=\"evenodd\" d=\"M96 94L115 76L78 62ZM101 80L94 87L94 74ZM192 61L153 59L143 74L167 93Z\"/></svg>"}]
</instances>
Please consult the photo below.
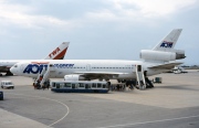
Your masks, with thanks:
<instances>
[{"instance_id":1,"label":"straight pale painted line across the tarmac at bottom right","mask_svg":"<svg viewBox=\"0 0 199 128\"><path fill-rule=\"evenodd\" d=\"M115 128L115 127L137 126L137 125L146 125L146 124L154 124L154 122L172 121L172 120L180 120L180 119L190 119L190 118L198 118L198 117L199 117L199 115L189 116L189 117L171 118L171 119L154 120L154 121L144 121L144 122L135 122L135 124L124 124L124 125L97 127L97 128Z\"/></svg>"}]
</instances>

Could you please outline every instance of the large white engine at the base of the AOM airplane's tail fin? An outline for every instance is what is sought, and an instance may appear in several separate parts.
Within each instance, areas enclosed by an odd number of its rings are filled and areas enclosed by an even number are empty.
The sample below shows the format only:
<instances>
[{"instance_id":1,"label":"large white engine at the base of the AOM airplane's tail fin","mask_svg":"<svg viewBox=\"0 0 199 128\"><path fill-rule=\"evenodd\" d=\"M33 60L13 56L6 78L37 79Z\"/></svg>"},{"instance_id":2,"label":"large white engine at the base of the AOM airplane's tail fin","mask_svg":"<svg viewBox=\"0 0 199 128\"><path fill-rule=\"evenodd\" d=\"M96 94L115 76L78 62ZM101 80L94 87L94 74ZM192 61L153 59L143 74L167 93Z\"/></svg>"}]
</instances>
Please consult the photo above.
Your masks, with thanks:
<instances>
[{"instance_id":1,"label":"large white engine at the base of the AOM airplane's tail fin","mask_svg":"<svg viewBox=\"0 0 199 128\"><path fill-rule=\"evenodd\" d=\"M163 51L150 51L150 50L142 50L140 58L143 60L151 60L151 61L175 61L185 58L185 51L174 50L171 52L163 52Z\"/></svg>"}]
</instances>

